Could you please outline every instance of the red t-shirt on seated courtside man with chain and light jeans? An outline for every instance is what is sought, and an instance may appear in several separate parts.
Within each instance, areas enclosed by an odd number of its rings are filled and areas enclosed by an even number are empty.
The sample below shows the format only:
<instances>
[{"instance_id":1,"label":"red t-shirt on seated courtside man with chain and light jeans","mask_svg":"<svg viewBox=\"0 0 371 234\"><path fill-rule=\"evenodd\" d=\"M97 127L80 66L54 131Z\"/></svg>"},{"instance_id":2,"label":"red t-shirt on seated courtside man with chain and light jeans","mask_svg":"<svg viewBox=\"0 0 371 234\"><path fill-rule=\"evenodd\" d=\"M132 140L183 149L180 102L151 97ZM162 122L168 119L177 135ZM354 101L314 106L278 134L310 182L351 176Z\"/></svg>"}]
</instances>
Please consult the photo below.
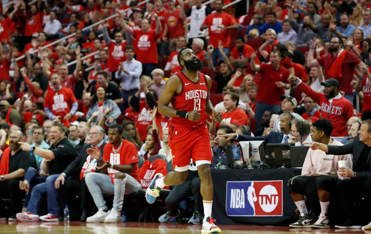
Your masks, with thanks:
<instances>
[{"instance_id":1,"label":"red t-shirt on seated courtside man with chain and light jeans","mask_svg":"<svg viewBox=\"0 0 371 234\"><path fill-rule=\"evenodd\" d=\"M118 146L117 148L115 148L115 151L116 150L118 151L114 152L111 143L106 144L103 149L103 161L109 161L111 165L112 164L115 164L115 165L134 164L133 171L128 174L131 175L134 179L136 179L140 183L139 169L138 169L138 155L137 155L137 148L135 148L135 145L123 139L121 147ZM113 183L116 172L118 171L113 168L107 168L107 171Z\"/></svg>"}]
</instances>

